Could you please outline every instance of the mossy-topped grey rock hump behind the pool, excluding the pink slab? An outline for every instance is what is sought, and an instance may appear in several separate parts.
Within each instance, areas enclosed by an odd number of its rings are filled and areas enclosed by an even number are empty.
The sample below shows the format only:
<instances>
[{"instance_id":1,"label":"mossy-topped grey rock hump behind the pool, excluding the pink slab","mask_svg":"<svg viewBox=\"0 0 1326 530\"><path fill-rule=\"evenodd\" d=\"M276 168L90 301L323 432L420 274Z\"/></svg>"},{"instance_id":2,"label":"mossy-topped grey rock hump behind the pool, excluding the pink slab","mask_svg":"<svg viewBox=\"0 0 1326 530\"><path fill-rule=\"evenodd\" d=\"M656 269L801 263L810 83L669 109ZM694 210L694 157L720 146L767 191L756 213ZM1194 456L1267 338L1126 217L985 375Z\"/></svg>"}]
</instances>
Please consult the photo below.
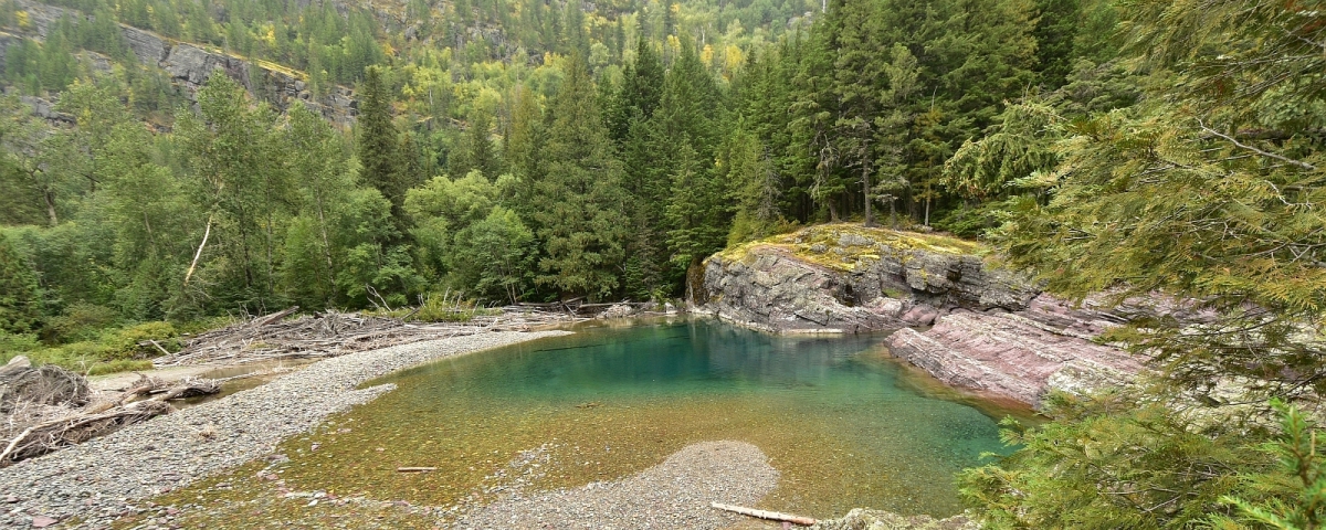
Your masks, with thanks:
<instances>
[{"instance_id":1,"label":"mossy-topped grey rock hump behind the pool, excluding the pink slab","mask_svg":"<svg viewBox=\"0 0 1326 530\"><path fill-rule=\"evenodd\" d=\"M859 333L928 326L953 307L1021 310L1040 294L980 252L941 236L810 227L709 257L701 302L768 331Z\"/></svg>"}]
</instances>

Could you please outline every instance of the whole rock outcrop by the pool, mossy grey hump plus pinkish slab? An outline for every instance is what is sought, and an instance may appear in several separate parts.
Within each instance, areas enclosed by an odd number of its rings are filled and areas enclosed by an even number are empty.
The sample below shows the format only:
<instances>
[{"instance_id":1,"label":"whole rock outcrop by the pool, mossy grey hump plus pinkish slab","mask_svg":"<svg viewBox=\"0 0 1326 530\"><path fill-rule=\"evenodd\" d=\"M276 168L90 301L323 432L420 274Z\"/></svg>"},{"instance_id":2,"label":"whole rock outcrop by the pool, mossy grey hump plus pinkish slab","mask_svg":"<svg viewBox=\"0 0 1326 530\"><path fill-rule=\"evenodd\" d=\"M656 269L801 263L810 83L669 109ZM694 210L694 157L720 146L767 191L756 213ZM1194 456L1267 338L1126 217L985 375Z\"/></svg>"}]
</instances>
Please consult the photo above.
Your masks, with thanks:
<instances>
[{"instance_id":1,"label":"whole rock outcrop by the pool, mossy grey hump plus pinkish slab","mask_svg":"<svg viewBox=\"0 0 1326 530\"><path fill-rule=\"evenodd\" d=\"M935 235L810 227L712 256L700 311L772 333L895 330L894 355L947 384L1032 405L1052 388L1082 392L1142 370L1091 339L1164 307L1075 307L985 253Z\"/></svg>"}]
</instances>

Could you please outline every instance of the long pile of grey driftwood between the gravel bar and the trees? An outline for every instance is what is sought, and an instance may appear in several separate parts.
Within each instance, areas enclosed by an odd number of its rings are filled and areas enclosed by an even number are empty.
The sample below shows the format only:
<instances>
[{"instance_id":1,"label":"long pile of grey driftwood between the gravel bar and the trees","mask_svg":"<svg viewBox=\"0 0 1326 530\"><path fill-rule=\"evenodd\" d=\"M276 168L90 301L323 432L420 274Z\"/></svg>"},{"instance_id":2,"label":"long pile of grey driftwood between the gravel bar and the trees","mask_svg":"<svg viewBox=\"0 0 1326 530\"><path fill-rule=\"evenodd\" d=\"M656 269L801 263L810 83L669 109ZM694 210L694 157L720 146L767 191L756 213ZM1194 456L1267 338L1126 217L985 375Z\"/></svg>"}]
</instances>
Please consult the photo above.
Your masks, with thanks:
<instances>
[{"instance_id":1,"label":"long pile of grey driftwood between the gravel bar and the trees","mask_svg":"<svg viewBox=\"0 0 1326 530\"><path fill-rule=\"evenodd\" d=\"M338 356L355 351L485 331L526 331L534 326L583 321L574 313L512 306L480 314L467 322L411 323L403 318L359 313L314 313L286 318L298 307L207 331L184 341L184 347L152 360L156 367L182 364Z\"/></svg>"}]
</instances>

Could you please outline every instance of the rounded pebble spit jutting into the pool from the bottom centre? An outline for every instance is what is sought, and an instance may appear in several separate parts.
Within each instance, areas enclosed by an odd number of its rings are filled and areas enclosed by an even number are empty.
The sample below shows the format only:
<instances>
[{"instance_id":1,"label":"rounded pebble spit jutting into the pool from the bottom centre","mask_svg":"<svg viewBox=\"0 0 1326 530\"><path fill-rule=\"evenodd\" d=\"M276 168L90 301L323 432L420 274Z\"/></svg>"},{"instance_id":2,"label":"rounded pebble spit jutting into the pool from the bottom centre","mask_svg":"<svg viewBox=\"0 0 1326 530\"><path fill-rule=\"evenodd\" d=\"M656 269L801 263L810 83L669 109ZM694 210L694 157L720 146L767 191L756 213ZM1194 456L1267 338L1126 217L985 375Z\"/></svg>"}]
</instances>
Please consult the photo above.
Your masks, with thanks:
<instances>
[{"instance_id":1,"label":"rounded pebble spit jutting into the pool from the bottom centre","mask_svg":"<svg viewBox=\"0 0 1326 530\"><path fill-rule=\"evenodd\" d=\"M760 448L705 441L627 478L497 501L453 527L724 529L743 515L709 502L754 506L777 482L778 472Z\"/></svg>"}]
</instances>

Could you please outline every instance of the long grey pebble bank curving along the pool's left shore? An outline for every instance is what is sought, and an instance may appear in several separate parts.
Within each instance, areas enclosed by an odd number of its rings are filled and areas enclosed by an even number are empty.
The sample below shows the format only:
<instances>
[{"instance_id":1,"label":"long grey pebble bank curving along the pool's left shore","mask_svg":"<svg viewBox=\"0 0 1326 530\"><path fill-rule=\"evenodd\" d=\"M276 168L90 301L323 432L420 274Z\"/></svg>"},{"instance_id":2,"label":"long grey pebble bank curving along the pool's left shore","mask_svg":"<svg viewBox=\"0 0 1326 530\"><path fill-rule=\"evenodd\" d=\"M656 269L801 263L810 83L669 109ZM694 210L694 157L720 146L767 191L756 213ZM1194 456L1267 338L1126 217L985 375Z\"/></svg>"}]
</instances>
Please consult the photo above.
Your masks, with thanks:
<instances>
[{"instance_id":1,"label":"long grey pebble bank curving along the pool's left shore","mask_svg":"<svg viewBox=\"0 0 1326 530\"><path fill-rule=\"evenodd\" d=\"M328 415L395 388L355 390L366 380L448 355L565 334L485 333L332 358L261 387L17 462L0 469L0 527L27 529L72 517L82 519L80 527L106 527L137 513L139 501L269 454L281 440L312 429Z\"/></svg>"}]
</instances>

